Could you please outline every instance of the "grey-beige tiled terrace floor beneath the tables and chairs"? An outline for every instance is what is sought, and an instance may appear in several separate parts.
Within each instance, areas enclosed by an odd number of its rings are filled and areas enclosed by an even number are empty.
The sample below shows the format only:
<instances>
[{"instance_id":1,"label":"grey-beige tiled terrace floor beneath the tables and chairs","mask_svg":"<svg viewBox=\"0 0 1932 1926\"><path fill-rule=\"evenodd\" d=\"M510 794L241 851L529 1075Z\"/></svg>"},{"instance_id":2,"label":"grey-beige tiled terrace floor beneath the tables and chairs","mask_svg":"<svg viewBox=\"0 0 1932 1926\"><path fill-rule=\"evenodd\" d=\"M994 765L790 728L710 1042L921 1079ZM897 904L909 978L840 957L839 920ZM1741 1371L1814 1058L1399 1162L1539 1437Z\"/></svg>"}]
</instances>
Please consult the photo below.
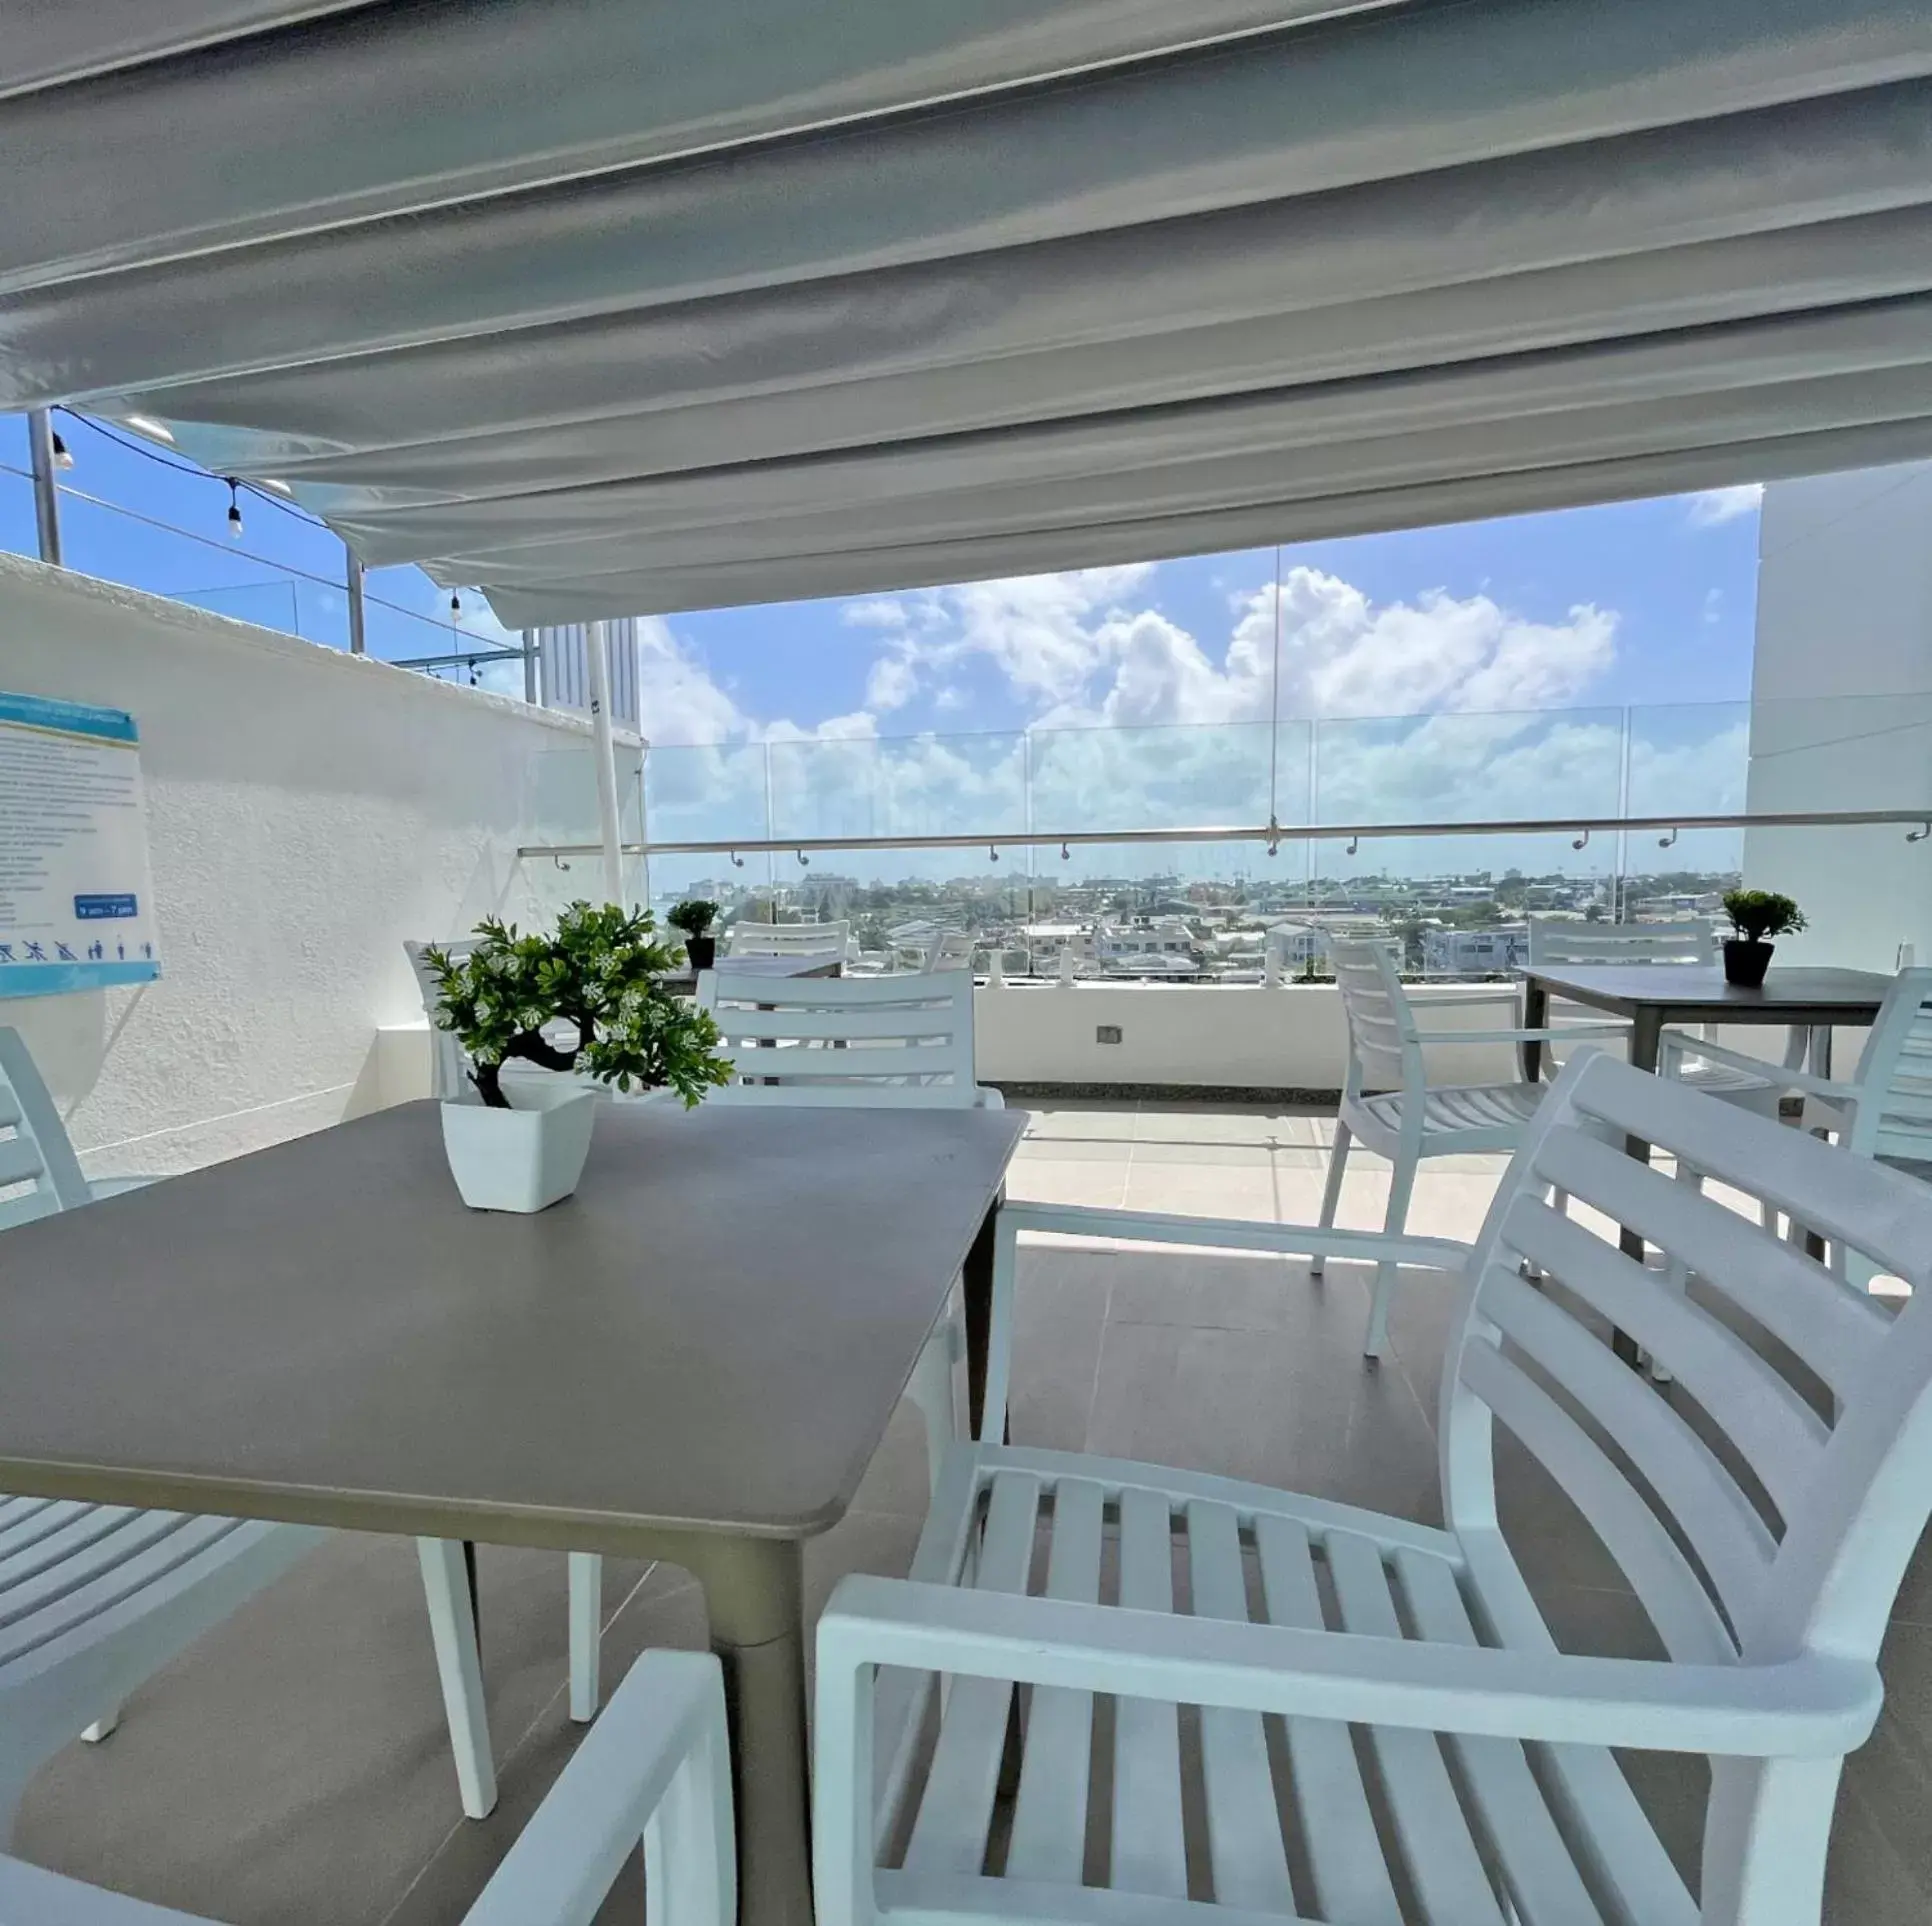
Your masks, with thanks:
<instances>
[{"instance_id":1,"label":"grey-beige tiled terrace floor beneath the tables and chairs","mask_svg":"<svg viewBox=\"0 0 1932 1926\"><path fill-rule=\"evenodd\" d=\"M1175 1105L1037 1111L1022 1198L1312 1221L1331 1119ZM1493 1159L1424 1167L1412 1229L1470 1236ZM1343 1223L1378 1225L1387 1171L1358 1155ZM1041 1248L1022 1256L1012 1433L1200 1466L1435 1518L1434 1408L1449 1294L1418 1279L1395 1354L1360 1362L1366 1277L1248 1256ZM1511 1464L1511 1526L1567 1642L1644 1650L1634 1605L1563 1501ZM858 1509L811 1547L815 1609L848 1571L902 1571L923 1507L902 1410ZM562 1768L564 1561L483 1551L483 1625L502 1799L456 1806L408 1544L342 1536L137 1694L102 1746L35 1781L17 1851L232 1926L433 1926L468 1899ZM609 1569L605 1671L649 1644L703 1642L697 1588L667 1567ZM1884 1656L1889 1706L1839 1800L1828 1920L1932 1916L1932 1559L1907 1578ZM1633 1760L1671 1849L1694 1862L1702 1775ZM620 1893L612 1918L636 1899Z\"/></svg>"}]
</instances>

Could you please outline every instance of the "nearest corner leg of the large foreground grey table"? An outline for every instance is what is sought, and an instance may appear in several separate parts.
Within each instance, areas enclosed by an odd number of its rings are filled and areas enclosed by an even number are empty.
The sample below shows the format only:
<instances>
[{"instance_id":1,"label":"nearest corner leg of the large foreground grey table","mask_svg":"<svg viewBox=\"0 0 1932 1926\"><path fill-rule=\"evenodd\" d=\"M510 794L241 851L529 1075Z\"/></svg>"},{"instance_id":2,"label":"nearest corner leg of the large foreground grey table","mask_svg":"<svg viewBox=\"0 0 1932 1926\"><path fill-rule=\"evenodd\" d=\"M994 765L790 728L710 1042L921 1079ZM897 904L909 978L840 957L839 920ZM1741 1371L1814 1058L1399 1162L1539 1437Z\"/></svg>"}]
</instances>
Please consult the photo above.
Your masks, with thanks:
<instances>
[{"instance_id":1,"label":"nearest corner leg of the large foreground grey table","mask_svg":"<svg viewBox=\"0 0 1932 1926\"><path fill-rule=\"evenodd\" d=\"M678 1563L684 1563L680 1555ZM802 1547L719 1538L690 1567L724 1669L742 1926L811 1926Z\"/></svg>"}]
</instances>

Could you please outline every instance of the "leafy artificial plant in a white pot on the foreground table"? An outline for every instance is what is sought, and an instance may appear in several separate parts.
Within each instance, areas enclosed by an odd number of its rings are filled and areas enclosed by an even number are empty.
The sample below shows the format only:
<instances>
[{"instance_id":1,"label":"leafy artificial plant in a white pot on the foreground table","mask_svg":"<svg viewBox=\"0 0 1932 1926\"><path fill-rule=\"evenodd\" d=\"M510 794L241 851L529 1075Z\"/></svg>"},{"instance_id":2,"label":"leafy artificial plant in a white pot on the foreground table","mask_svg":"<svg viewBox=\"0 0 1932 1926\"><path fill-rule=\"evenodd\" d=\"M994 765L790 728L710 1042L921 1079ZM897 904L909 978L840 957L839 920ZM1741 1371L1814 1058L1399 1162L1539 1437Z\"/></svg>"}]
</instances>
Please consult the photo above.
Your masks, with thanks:
<instances>
[{"instance_id":1,"label":"leafy artificial plant in a white pot on the foreground table","mask_svg":"<svg viewBox=\"0 0 1932 1926\"><path fill-rule=\"evenodd\" d=\"M711 1014L663 983L674 952L657 941L649 912L574 902L551 935L520 935L495 916L475 935L468 956L423 952L437 1028L475 1064L479 1101L442 1105L442 1147L471 1209L541 1211L578 1188L599 1097L583 1078L670 1090L686 1107L730 1080ZM504 1090L508 1062L578 1076Z\"/></svg>"}]
</instances>

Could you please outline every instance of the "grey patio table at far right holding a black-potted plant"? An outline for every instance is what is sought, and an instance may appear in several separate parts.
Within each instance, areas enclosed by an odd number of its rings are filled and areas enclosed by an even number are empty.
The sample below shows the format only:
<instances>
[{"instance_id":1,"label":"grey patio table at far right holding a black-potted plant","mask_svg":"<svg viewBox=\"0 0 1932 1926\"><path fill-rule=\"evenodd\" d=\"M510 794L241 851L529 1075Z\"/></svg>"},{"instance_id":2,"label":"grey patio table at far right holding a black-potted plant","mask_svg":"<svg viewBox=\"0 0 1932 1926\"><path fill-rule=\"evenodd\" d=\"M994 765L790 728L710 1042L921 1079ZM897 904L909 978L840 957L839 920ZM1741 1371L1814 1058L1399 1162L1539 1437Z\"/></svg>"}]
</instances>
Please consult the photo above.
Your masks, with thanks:
<instances>
[{"instance_id":1,"label":"grey patio table at far right holding a black-potted plant","mask_svg":"<svg viewBox=\"0 0 1932 1926\"><path fill-rule=\"evenodd\" d=\"M1694 964L1549 964L1524 972L1522 1028L1548 1028L1549 999L1605 1010L1631 1020L1631 1062L1638 1070L1658 1068L1663 1032L1671 1024L1777 1024L1808 1032L1810 1066L1832 1074L1832 1028L1868 1028L1891 989L1891 977L1872 970L1770 970L1762 989L1727 983L1723 970ZM1534 1084L1542 1074L1542 1043L1522 1043L1522 1078ZM1633 1157L1648 1161L1650 1146L1631 1138ZM1623 1232L1623 1248L1642 1261L1644 1240ZM1636 1346L1617 1333L1617 1350L1636 1356Z\"/></svg>"}]
</instances>

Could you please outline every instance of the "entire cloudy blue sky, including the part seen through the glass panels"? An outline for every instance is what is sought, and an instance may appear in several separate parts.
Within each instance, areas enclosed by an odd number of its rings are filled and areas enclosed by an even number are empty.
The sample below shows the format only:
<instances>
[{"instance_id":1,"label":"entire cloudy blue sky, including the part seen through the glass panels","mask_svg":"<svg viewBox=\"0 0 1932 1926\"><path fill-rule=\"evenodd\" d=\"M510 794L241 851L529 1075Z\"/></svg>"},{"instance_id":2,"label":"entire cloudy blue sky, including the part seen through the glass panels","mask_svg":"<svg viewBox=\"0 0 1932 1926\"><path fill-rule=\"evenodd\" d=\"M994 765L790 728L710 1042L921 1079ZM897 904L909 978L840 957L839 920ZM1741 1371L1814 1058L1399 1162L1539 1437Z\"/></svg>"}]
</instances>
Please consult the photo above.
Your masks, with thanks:
<instances>
[{"instance_id":1,"label":"entire cloudy blue sky, including the part seen through the glass panels","mask_svg":"<svg viewBox=\"0 0 1932 1926\"><path fill-rule=\"evenodd\" d=\"M178 473L85 421L60 425L71 487L207 537L68 498L70 566L346 645L330 585L342 545L327 529L243 496L245 537L230 543L224 483ZM27 466L19 417L0 417L0 466ZM0 471L0 547L33 543L27 483ZM1727 489L647 618L647 736L724 746L661 748L653 835L761 835L767 819L781 835L871 836L1248 823L1271 807L1283 823L1735 809L1756 549L1758 491ZM512 639L475 593L452 630L448 591L421 570L379 570L369 587L381 597L369 610L375 655ZM481 680L520 692L522 666ZM1642 711L1629 730L1625 707ZM1410 721L1374 721L1387 717ZM1412 860L1447 856L1437 844ZM1567 835L1501 854L1532 858L1602 862L1596 846L1573 854Z\"/></svg>"}]
</instances>

